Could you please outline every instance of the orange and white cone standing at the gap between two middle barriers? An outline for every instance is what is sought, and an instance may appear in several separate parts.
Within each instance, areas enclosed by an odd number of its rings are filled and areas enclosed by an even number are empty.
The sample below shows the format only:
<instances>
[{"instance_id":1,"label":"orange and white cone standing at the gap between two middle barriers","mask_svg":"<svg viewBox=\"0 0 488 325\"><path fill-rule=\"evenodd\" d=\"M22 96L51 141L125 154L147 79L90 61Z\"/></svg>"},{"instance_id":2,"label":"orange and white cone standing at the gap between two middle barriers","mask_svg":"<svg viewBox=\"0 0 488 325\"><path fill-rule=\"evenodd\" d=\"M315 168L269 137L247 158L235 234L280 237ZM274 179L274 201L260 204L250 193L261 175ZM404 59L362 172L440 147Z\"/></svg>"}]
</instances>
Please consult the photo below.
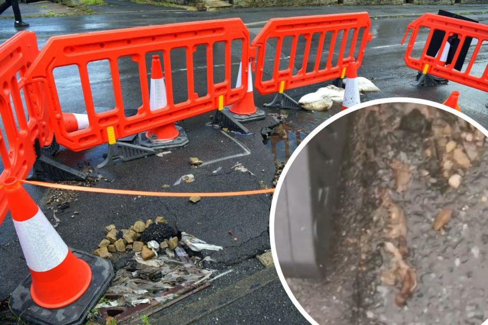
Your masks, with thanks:
<instances>
[{"instance_id":1,"label":"orange and white cone standing at the gap between two middle barriers","mask_svg":"<svg viewBox=\"0 0 488 325\"><path fill-rule=\"evenodd\" d=\"M238 88L242 85L242 62L239 63L239 73L237 74L237 82L235 87ZM262 120L266 117L264 111L258 110L254 104L254 92L253 92L253 74L251 70L251 60L248 64L248 89L241 101L232 104L229 107L229 111L232 116L239 122L250 122L256 120Z\"/></svg>"}]
</instances>

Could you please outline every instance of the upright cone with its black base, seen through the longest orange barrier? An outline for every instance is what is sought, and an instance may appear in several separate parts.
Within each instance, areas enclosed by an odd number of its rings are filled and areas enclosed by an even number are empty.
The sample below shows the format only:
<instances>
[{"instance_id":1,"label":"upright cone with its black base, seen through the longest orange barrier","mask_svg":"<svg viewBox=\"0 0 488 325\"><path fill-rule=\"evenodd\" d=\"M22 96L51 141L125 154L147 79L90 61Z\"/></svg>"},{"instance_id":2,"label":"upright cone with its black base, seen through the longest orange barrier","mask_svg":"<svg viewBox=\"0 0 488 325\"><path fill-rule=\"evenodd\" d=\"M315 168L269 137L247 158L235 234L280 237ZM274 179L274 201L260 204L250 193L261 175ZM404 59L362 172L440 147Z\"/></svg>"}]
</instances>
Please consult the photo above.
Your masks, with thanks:
<instances>
[{"instance_id":1,"label":"upright cone with its black base, seen through the longest orange barrier","mask_svg":"<svg viewBox=\"0 0 488 325\"><path fill-rule=\"evenodd\" d=\"M151 62L151 85L149 90L149 109L159 110L167 106L166 85L159 55L153 55ZM156 150L182 147L188 143L185 130L175 123L158 126L149 129L145 137L139 136L141 146Z\"/></svg>"}]
</instances>

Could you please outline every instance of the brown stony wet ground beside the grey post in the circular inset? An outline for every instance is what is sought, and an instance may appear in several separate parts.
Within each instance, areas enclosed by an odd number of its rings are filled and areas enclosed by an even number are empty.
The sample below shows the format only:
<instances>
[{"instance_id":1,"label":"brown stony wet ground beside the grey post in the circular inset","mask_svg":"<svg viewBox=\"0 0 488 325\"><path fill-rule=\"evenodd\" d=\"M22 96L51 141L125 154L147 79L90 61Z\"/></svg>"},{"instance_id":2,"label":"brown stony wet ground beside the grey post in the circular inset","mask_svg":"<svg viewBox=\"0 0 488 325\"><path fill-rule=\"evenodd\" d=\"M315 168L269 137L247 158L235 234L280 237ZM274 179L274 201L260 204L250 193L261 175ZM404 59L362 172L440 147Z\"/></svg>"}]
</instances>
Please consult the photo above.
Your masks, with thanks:
<instances>
[{"instance_id":1,"label":"brown stony wet ground beside the grey post in the circular inset","mask_svg":"<svg viewBox=\"0 0 488 325\"><path fill-rule=\"evenodd\" d=\"M288 279L295 297L320 324L482 323L484 136L414 104L348 118L330 263L322 280Z\"/></svg>"}]
</instances>

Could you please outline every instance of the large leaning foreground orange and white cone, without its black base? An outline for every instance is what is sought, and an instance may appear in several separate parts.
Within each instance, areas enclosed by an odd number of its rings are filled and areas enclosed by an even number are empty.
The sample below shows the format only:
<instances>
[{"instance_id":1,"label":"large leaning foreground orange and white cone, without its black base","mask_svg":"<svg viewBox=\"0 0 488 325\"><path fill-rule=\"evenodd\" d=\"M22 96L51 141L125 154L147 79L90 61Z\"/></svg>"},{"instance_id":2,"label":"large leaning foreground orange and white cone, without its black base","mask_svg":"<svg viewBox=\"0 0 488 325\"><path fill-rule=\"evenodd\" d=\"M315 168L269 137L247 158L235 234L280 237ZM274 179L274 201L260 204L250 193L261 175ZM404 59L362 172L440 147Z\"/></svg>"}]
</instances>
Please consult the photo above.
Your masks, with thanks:
<instances>
[{"instance_id":1,"label":"large leaning foreground orange and white cone, without its black base","mask_svg":"<svg viewBox=\"0 0 488 325\"><path fill-rule=\"evenodd\" d=\"M8 177L3 186L31 271L32 300L47 309L74 303L92 282L92 270L66 246L17 178Z\"/></svg>"}]
</instances>

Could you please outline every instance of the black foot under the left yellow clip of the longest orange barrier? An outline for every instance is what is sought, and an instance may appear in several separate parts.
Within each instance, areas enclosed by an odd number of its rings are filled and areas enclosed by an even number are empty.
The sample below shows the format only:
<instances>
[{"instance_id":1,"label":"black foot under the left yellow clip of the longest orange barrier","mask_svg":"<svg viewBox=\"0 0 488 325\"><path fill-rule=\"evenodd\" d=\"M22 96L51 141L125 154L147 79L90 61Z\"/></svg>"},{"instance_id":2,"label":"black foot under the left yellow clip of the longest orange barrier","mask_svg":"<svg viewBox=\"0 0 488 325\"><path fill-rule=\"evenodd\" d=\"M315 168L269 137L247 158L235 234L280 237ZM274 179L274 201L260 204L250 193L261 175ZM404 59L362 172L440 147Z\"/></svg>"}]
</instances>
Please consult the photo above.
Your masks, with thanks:
<instances>
[{"instance_id":1,"label":"black foot under the left yellow clip of the longest orange barrier","mask_svg":"<svg viewBox=\"0 0 488 325\"><path fill-rule=\"evenodd\" d=\"M104 168L115 164L125 163L138 158L145 158L156 151L150 148L137 146L130 143L117 141L108 146L107 157L97 168Z\"/></svg>"}]
</instances>

